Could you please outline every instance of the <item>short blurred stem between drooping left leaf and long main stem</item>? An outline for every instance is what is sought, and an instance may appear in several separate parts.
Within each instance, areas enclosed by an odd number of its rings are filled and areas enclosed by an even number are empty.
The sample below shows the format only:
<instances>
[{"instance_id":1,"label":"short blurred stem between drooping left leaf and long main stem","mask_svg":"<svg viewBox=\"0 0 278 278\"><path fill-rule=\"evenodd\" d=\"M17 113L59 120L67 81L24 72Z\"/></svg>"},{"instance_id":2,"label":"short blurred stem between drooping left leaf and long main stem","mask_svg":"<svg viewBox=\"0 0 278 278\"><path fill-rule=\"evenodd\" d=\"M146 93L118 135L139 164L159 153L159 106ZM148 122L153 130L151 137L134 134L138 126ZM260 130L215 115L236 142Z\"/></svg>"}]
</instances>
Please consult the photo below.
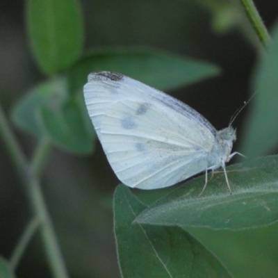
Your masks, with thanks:
<instances>
[{"instance_id":1,"label":"short blurred stem between drooping left leaf and long main stem","mask_svg":"<svg viewBox=\"0 0 278 278\"><path fill-rule=\"evenodd\" d=\"M44 164L49 157L51 150L51 140L48 136L44 136L40 139L38 147L35 149L33 157L31 159L31 165L33 171L37 177L40 177L42 169L44 169Z\"/></svg>"}]
</instances>

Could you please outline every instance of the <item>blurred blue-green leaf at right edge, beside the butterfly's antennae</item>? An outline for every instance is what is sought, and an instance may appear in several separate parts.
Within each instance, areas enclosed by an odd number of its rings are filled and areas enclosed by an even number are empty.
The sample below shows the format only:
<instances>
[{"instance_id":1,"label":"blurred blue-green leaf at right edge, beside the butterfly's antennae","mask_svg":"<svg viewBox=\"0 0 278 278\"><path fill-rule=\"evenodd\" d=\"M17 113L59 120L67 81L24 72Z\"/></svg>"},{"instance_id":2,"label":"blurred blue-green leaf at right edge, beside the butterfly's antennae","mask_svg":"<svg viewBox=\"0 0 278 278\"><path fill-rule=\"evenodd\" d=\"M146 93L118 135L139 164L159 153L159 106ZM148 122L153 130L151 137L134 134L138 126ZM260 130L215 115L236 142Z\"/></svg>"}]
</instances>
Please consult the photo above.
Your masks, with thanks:
<instances>
[{"instance_id":1,"label":"blurred blue-green leaf at right edge, beside the butterfly's antennae","mask_svg":"<svg viewBox=\"0 0 278 278\"><path fill-rule=\"evenodd\" d=\"M256 67L252 111L245 122L241 152L248 158L260 156L278 143L278 24L274 28L268 53Z\"/></svg>"}]
</instances>

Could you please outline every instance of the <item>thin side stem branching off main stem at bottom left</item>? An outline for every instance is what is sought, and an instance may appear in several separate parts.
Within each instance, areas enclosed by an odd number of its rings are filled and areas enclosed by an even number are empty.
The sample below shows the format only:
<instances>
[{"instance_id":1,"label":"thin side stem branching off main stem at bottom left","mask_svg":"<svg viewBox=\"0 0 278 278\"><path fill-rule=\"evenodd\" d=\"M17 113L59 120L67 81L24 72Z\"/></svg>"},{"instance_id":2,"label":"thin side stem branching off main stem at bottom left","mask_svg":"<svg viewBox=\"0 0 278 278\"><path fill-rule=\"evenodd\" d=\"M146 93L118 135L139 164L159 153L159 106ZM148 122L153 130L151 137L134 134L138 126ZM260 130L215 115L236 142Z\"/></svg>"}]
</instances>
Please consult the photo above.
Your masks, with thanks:
<instances>
[{"instance_id":1,"label":"thin side stem branching off main stem at bottom left","mask_svg":"<svg viewBox=\"0 0 278 278\"><path fill-rule=\"evenodd\" d=\"M35 234L35 231L38 229L39 224L40 221L38 220L38 218L33 218L33 220L31 220L31 222L26 227L21 238L19 239L19 243L17 243L17 246L15 247L15 250L10 258L10 268L13 271L15 271L15 269L17 268L19 260L22 258L26 247L30 243L31 238Z\"/></svg>"}]
</instances>

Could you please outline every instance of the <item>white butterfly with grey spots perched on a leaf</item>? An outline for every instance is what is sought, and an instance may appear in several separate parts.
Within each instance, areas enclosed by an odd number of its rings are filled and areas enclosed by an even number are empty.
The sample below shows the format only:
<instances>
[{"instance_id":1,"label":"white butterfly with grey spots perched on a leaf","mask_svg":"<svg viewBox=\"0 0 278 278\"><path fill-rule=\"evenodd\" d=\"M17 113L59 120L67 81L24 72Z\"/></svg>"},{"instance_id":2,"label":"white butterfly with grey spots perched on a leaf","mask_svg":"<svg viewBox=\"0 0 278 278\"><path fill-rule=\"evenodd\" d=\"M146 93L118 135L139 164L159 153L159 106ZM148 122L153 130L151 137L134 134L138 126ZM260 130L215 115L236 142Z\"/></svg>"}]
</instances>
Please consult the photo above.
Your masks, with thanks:
<instances>
[{"instance_id":1,"label":"white butterfly with grey spots perched on a leaf","mask_svg":"<svg viewBox=\"0 0 278 278\"><path fill-rule=\"evenodd\" d=\"M84 97L108 161L126 186L164 188L203 171L207 183L208 170L222 167L231 192L225 163L238 154L231 154L231 125L217 131L190 106L113 72L90 74Z\"/></svg>"}]
</instances>

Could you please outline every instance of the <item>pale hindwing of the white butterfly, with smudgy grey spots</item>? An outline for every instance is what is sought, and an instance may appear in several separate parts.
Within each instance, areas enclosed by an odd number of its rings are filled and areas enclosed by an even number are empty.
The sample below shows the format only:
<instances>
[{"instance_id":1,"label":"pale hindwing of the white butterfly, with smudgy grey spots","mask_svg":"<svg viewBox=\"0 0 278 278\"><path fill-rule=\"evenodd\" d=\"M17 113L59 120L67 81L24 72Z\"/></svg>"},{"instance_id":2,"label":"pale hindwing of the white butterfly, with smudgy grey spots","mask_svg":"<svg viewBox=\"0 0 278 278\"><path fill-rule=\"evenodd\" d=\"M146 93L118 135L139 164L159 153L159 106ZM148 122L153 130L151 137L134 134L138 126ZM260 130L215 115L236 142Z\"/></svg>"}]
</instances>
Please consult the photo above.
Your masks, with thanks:
<instances>
[{"instance_id":1,"label":"pale hindwing of the white butterfly, with smudgy grey spots","mask_svg":"<svg viewBox=\"0 0 278 278\"><path fill-rule=\"evenodd\" d=\"M213 138L207 140L209 132L203 126L195 126L195 134L191 134L193 126L192 120L155 101L122 99L106 109L99 136L123 183L153 189L171 186L206 169L204 156ZM205 142L204 133L208 133Z\"/></svg>"}]
</instances>

